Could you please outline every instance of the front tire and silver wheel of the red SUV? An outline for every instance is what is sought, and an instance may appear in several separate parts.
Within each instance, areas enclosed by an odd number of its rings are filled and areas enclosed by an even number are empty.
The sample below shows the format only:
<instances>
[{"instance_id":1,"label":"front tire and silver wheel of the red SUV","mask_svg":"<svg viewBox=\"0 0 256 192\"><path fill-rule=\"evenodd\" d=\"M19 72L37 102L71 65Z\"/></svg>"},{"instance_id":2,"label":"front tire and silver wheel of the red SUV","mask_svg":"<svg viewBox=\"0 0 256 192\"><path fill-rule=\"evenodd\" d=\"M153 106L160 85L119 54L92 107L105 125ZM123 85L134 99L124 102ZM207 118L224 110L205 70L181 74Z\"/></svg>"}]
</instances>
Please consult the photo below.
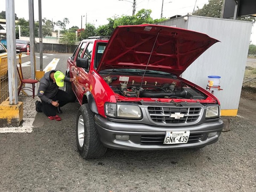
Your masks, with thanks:
<instances>
[{"instance_id":1,"label":"front tire and silver wheel of the red SUV","mask_svg":"<svg viewBox=\"0 0 256 192\"><path fill-rule=\"evenodd\" d=\"M89 105L84 104L79 108L76 117L76 145L84 159L100 158L107 150L99 140L94 115Z\"/></svg>"}]
</instances>

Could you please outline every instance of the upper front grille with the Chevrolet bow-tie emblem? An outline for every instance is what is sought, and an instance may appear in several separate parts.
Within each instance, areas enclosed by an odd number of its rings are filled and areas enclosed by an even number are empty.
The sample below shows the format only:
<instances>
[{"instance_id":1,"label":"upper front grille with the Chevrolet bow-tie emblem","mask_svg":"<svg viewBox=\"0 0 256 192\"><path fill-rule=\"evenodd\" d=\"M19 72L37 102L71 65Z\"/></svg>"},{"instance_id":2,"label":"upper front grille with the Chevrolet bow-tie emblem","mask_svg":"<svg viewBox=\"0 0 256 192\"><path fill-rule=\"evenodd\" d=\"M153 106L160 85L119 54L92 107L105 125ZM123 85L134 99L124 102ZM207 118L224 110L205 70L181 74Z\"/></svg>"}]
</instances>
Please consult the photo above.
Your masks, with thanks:
<instances>
[{"instance_id":1,"label":"upper front grille with the Chevrolet bow-tie emblem","mask_svg":"<svg viewBox=\"0 0 256 192\"><path fill-rule=\"evenodd\" d=\"M148 107L153 122L160 124L184 124L196 122L202 108Z\"/></svg>"}]
</instances>

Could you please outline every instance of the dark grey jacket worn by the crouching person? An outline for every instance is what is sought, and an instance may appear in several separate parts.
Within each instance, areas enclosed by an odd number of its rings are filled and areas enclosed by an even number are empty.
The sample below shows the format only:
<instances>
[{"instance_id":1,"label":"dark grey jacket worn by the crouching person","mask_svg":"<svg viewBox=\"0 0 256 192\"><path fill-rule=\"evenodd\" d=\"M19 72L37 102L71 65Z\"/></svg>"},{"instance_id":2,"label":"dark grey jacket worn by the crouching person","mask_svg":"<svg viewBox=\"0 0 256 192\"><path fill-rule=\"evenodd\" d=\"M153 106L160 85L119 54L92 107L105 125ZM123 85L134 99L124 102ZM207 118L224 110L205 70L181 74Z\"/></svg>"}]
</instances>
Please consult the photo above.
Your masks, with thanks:
<instances>
[{"instance_id":1,"label":"dark grey jacket worn by the crouching person","mask_svg":"<svg viewBox=\"0 0 256 192\"><path fill-rule=\"evenodd\" d=\"M38 88L38 97L41 101L51 103L52 97L54 97L58 92L58 85L53 82L50 78L51 73L55 73L55 70L48 71L44 74L44 76L40 79L39 88ZM70 78L65 76L64 81L69 82Z\"/></svg>"}]
</instances>

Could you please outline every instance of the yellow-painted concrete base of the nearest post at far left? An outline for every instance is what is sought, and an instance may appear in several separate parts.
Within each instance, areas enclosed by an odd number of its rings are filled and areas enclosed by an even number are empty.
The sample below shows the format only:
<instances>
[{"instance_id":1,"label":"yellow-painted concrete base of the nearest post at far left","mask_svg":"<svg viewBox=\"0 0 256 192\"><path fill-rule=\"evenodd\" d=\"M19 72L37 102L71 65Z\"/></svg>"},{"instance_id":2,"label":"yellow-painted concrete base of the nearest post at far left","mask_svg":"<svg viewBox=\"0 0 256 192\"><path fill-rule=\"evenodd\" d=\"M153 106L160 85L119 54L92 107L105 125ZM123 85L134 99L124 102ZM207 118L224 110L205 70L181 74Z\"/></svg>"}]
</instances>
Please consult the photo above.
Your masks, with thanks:
<instances>
[{"instance_id":1,"label":"yellow-painted concrete base of the nearest post at far left","mask_svg":"<svg viewBox=\"0 0 256 192\"><path fill-rule=\"evenodd\" d=\"M0 127L18 127L23 120L23 102L10 105L9 101L0 104Z\"/></svg>"}]
</instances>

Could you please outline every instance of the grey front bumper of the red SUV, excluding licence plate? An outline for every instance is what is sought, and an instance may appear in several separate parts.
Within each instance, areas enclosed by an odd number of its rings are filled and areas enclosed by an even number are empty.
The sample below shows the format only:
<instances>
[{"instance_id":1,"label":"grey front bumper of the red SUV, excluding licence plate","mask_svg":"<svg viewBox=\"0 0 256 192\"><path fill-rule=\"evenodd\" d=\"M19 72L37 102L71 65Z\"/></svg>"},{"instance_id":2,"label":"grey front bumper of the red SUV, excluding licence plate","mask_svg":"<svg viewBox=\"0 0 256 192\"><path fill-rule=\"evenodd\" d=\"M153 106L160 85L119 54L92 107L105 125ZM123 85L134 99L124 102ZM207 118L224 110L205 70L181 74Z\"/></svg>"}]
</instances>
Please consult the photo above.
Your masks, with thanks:
<instances>
[{"instance_id":1,"label":"grey front bumper of the red SUV, excluding licence plate","mask_svg":"<svg viewBox=\"0 0 256 192\"><path fill-rule=\"evenodd\" d=\"M103 145L121 150L200 148L217 142L224 125L219 119L200 125L159 127L141 123L112 122L100 115L95 115L95 124ZM185 144L163 144L166 131L190 131L189 141ZM208 137L212 132L217 134ZM116 140L116 134L130 135L130 139Z\"/></svg>"}]
</instances>

